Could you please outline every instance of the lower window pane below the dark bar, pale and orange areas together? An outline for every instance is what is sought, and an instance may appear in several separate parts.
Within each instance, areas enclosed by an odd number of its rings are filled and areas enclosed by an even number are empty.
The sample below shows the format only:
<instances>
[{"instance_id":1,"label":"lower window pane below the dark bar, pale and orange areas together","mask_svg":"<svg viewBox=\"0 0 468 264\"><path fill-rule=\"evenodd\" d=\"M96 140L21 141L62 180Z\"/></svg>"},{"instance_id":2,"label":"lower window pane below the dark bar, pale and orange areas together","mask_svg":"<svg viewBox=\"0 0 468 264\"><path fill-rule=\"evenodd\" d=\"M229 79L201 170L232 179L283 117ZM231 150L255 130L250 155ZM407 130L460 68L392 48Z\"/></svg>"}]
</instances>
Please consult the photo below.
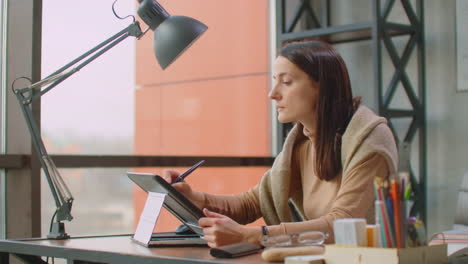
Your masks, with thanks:
<instances>
[{"instance_id":1,"label":"lower window pane below the dark bar, pale and orange areas together","mask_svg":"<svg viewBox=\"0 0 468 264\"><path fill-rule=\"evenodd\" d=\"M185 171L187 168L175 168ZM266 167L203 168L186 181L192 188L215 194L237 194L256 185ZM147 194L126 175L127 171L161 174L161 168L60 169L75 198L72 221L65 223L71 236L134 233ZM41 179L42 235L49 234L55 203L44 174ZM261 220L254 223L258 225ZM163 209L156 232L173 231L181 222Z\"/></svg>"}]
</instances>

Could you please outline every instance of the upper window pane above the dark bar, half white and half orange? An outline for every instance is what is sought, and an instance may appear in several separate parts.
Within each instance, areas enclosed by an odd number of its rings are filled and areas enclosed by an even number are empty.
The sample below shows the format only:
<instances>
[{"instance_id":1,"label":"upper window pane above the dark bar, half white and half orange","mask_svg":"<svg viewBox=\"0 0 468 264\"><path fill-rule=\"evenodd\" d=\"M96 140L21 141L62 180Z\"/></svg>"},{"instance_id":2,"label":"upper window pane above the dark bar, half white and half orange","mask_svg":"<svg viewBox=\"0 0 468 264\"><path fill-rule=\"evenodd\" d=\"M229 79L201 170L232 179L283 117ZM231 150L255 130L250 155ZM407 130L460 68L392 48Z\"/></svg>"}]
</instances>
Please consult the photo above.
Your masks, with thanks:
<instances>
[{"instance_id":1,"label":"upper window pane above the dark bar, half white and half orange","mask_svg":"<svg viewBox=\"0 0 468 264\"><path fill-rule=\"evenodd\" d=\"M43 96L49 152L270 155L268 1L160 2L170 13L203 21L208 31L165 71L154 59L152 32L136 42L136 70L135 40L126 40ZM134 12L123 3L118 12ZM77 17L61 15L70 6ZM110 6L44 3L44 76L128 25Z\"/></svg>"}]
</instances>

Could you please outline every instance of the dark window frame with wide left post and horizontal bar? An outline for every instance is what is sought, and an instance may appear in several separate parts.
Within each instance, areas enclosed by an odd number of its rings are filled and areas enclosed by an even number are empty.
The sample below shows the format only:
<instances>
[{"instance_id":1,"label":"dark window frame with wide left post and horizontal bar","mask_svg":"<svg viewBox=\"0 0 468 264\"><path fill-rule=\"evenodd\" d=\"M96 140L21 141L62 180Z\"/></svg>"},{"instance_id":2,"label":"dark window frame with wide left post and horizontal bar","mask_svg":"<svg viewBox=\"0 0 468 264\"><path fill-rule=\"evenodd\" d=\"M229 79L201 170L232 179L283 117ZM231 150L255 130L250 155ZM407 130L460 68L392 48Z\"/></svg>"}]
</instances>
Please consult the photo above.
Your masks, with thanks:
<instances>
[{"instance_id":1,"label":"dark window frame with wide left post and horizontal bar","mask_svg":"<svg viewBox=\"0 0 468 264\"><path fill-rule=\"evenodd\" d=\"M24 51L29 48L32 54L20 54L18 51L5 49L7 58L5 79L2 75L2 144L0 146L0 170L5 172L0 182L0 237L38 237L41 234L41 168L31 144L23 116L11 89L12 81L18 76L31 76L40 80L41 76L41 34L42 34L42 0L10 2L0 0L2 10L9 14L7 25L2 23L8 36L0 39L2 51L4 46L17 46ZM271 6L271 4L270 4ZM3 13L2 13L3 14ZM271 13L270 13L271 14ZM8 30L23 20L26 30ZM26 18L26 21L25 19ZM2 17L3 19L3 17ZM6 21L6 20L2 20ZM274 27L271 32L274 32ZM2 31L3 32L3 31ZM28 34L29 33L29 34ZM31 34L32 33L32 34ZM3 36L3 35L2 35ZM271 39L271 37L270 37ZM5 40L8 40L6 42ZM273 50L273 48L272 48ZM3 55L3 53L2 53ZM3 67L2 67L3 69ZM3 96L5 95L5 96ZM4 102L3 102L4 101ZM33 114L40 128L40 99L33 103ZM272 108L273 109L273 108ZM276 124L276 122L272 122ZM272 133L274 130L272 129ZM13 136L14 135L14 136ZM275 140L273 139L273 142ZM274 148L273 148L274 149ZM273 151L275 152L275 151ZM274 155L274 153L272 153ZM187 167L204 159L209 167L271 166L274 157L219 157L219 156L137 156L137 155L51 155L58 168L112 168L112 167ZM8 190L15 190L8 191ZM22 199L18 197L22 196ZM17 206L22 204L22 206ZM13 209L15 208L15 209ZM27 217L25 217L27 215ZM24 221L13 221L22 218ZM27 218L27 219L25 219ZM8 221L10 219L10 221ZM2 232L3 231L3 232Z\"/></svg>"}]
</instances>

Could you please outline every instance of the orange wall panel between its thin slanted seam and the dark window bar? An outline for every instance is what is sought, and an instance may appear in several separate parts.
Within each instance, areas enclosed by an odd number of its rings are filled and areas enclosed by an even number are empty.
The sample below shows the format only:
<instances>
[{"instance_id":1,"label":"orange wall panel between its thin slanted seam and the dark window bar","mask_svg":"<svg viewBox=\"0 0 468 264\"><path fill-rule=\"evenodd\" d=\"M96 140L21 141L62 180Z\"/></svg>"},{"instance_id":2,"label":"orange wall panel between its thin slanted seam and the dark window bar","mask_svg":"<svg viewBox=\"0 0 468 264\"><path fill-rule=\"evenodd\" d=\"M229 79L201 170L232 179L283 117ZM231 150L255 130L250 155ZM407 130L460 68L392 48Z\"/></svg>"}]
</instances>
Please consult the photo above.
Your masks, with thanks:
<instances>
[{"instance_id":1,"label":"orange wall panel between its thin slanted seam and the dark window bar","mask_svg":"<svg viewBox=\"0 0 468 264\"><path fill-rule=\"evenodd\" d=\"M269 155L266 76L144 86L136 92L140 155Z\"/></svg>"}]
</instances>

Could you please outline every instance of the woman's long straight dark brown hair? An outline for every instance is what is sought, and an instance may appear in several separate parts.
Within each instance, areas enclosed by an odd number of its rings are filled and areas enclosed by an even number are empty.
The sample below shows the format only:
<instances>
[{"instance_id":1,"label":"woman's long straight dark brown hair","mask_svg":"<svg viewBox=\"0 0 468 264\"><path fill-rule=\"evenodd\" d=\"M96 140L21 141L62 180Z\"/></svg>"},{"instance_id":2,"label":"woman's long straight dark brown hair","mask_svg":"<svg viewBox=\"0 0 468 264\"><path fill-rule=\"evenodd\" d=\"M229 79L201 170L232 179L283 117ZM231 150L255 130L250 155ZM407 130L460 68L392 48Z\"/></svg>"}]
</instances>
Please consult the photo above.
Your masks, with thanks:
<instances>
[{"instance_id":1,"label":"woman's long straight dark brown hair","mask_svg":"<svg viewBox=\"0 0 468 264\"><path fill-rule=\"evenodd\" d=\"M322 180L339 175L341 136L360 98L353 99L346 65L327 43L300 41L285 45L279 56L287 58L319 84L315 111L315 172Z\"/></svg>"}]
</instances>

